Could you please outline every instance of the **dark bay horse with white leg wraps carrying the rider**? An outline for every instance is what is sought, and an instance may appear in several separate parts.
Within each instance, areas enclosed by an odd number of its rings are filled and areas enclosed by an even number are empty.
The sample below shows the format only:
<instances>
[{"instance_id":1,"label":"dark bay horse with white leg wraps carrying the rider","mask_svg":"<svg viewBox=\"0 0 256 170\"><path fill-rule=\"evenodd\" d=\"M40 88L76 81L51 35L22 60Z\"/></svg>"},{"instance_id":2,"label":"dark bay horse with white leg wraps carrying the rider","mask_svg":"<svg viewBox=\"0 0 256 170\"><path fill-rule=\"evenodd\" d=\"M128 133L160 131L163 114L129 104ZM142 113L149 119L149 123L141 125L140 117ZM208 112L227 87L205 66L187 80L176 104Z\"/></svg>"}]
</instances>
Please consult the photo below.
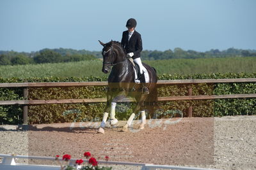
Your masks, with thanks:
<instances>
[{"instance_id":1,"label":"dark bay horse with white leg wraps carrying the rider","mask_svg":"<svg viewBox=\"0 0 256 170\"><path fill-rule=\"evenodd\" d=\"M148 87L149 94L143 94L141 89L143 85L141 83L134 83L134 69L132 62L127 59L127 54L120 45L118 41L110 41L109 43L102 43L99 41L103 47L102 56L103 56L103 73L111 73L108 76L108 92L107 92L107 104L104 110L103 120L100 125L98 132L104 133L104 127L106 120L108 118L108 113L110 112L110 124L115 125L118 120L115 118L115 103L121 101L125 97L133 97L136 101L137 106L134 108L133 113L127 124L123 127L122 131L127 131L127 127L131 125L131 122L135 116L135 113L141 111L141 120L140 129L144 128L146 116L145 110L154 111L154 106L152 103L157 100L157 75L156 69L150 67L147 64L143 63L143 66L148 70L149 81L145 83ZM113 105L114 103L114 105ZM147 103L147 104L146 104ZM151 105L151 107L148 106Z\"/></svg>"}]
</instances>

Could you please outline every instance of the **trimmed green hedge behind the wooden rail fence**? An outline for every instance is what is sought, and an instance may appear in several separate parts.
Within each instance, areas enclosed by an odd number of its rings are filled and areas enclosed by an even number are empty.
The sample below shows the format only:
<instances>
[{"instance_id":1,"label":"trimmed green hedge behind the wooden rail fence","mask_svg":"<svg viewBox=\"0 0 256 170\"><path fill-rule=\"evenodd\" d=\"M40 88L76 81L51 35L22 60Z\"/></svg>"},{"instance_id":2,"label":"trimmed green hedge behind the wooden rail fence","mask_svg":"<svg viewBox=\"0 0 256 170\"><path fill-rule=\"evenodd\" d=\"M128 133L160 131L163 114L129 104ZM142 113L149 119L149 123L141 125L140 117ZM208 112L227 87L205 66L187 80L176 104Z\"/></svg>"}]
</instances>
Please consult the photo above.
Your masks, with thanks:
<instances>
[{"instance_id":1,"label":"trimmed green hedge behind the wooden rail fence","mask_svg":"<svg viewBox=\"0 0 256 170\"><path fill-rule=\"evenodd\" d=\"M210 78L255 78L256 73L227 73L227 74L163 74L159 80L186 80ZM0 83L18 82L59 82L59 81L106 81L107 77L84 78L0 78ZM158 88L158 96L186 96L189 87L193 95L220 94L255 94L256 83L216 83L197 85L163 85ZM0 100L23 99L22 89L1 88ZM29 99L83 99L106 97L106 87L61 87L61 88L29 88ZM256 99L216 99L202 101L168 101L159 102L156 114L150 117L167 118L169 113L183 113L188 116L188 106L193 106L193 117L219 117L225 115L256 115ZM106 103L88 104L45 104L29 106L29 124L43 124L53 122L81 122L100 121ZM120 103L116 106L116 116L119 120L126 120L131 114L134 103ZM148 115L149 117L149 115ZM0 106L1 124L22 124L21 106Z\"/></svg>"}]
</instances>

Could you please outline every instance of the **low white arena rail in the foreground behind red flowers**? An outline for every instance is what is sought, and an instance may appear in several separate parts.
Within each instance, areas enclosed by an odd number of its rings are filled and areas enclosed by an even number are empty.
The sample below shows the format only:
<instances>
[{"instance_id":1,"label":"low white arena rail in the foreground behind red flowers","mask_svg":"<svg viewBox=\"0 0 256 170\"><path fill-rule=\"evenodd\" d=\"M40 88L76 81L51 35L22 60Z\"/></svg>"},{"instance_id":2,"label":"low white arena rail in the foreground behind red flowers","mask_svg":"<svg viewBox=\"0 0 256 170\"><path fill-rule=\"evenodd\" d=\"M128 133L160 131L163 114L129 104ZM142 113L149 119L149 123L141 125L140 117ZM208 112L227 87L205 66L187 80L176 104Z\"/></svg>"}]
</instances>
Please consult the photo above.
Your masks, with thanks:
<instances>
[{"instance_id":1,"label":"low white arena rail in the foreground behind red flowers","mask_svg":"<svg viewBox=\"0 0 256 170\"><path fill-rule=\"evenodd\" d=\"M17 159L41 159L41 160L52 160L55 161L55 157L38 157L28 155L6 155L0 154L0 158L3 158L0 163L0 169L2 170L60 170L60 166L46 166L46 165L35 165L35 164L18 164L15 162ZM74 164L77 159L70 159L70 164ZM84 160L86 162L87 160ZM141 166L141 170L156 170L156 169L179 169L179 170L211 170L205 168L196 167L182 167L182 166L167 166L167 165L155 165L155 164L143 164L134 162L117 162L117 161L103 161L99 160L99 164L112 164L112 165L124 165L124 166ZM213 170L213 169L212 169Z\"/></svg>"}]
</instances>

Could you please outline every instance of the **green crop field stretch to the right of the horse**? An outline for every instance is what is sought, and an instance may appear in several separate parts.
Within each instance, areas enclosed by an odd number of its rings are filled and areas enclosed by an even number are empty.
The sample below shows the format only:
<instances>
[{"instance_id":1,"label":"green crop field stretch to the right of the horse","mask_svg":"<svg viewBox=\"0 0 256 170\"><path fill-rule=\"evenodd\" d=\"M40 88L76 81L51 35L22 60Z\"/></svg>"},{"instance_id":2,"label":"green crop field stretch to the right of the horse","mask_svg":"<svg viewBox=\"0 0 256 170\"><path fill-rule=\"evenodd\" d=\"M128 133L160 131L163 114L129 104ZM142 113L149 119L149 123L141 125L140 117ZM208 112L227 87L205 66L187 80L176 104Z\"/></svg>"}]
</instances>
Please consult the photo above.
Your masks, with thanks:
<instances>
[{"instance_id":1,"label":"green crop field stretch to the right of the horse","mask_svg":"<svg viewBox=\"0 0 256 170\"><path fill-rule=\"evenodd\" d=\"M171 59L144 61L155 67L157 74L252 73L256 57L211 59Z\"/></svg>"}]
</instances>

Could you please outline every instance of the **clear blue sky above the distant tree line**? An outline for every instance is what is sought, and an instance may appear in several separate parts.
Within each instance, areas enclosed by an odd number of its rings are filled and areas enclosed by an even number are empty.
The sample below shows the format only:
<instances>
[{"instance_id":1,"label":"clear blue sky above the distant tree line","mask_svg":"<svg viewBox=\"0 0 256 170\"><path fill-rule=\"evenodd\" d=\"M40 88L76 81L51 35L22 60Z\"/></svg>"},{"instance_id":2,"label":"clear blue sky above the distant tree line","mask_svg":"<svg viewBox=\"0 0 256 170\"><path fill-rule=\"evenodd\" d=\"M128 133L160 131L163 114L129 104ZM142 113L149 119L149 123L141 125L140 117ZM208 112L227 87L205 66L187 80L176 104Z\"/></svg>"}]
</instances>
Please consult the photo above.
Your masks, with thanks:
<instances>
[{"instance_id":1,"label":"clear blue sky above the distant tree line","mask_svg":"<svg viewBox=\"0 0 256 170\"><path fill-rule=\"evenodd\" d=\"M101 50L136 18L144 50L256 49L255 0L0 0L0 50Z\"/></svg>"}]
</instances>

